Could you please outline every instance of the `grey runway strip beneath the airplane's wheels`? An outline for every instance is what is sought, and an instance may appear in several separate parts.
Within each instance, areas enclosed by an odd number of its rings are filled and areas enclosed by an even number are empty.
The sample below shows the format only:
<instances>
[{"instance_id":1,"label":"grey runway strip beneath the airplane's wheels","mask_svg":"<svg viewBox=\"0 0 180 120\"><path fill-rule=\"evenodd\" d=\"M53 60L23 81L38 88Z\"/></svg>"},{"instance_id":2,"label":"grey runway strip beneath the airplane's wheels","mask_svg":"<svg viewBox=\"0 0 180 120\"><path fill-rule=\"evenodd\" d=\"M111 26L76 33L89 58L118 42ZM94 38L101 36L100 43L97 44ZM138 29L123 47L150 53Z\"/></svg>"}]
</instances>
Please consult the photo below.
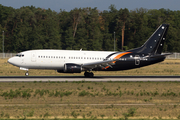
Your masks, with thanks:
<instances>
[{"instance_id":1,"label":"grey runway strip beneath the airplane's wheels","mask_svg":"<svg viewBox=\"0 0 180 120\"><path fill-rule=\"evenodd\" d=\"M110 82L110 81L129 81L129 82L166 82L180 81L180 76L95 76L86 78L84 76L0 76L0 82L73 82L73 81L91 81L91 82Z\"/></svg>"}]
</instances>

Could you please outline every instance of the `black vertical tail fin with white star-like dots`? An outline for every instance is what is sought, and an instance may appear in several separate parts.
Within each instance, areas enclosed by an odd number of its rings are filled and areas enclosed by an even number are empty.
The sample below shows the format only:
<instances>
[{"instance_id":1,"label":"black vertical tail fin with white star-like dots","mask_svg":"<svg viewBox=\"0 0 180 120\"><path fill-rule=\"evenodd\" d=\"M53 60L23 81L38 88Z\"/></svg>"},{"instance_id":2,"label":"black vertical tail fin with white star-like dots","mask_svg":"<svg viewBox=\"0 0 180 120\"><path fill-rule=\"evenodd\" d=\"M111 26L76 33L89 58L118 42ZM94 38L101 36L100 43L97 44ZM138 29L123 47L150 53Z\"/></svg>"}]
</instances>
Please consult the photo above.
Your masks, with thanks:
<instances>
[{"instance_id":1,"label":"black vertical tail fin with white star-like dots","mask_svg":"<svg viewBox=\"0 0 180 120\"><path fill-rule=\"evenodd\" d=\"M169 28L168 24L160 25L158 29L144 43L144 45L142 45L139 49L137 49L137 52L147 53L151 55L161 54L168 28Z\"/></svg>"}]
</instances>

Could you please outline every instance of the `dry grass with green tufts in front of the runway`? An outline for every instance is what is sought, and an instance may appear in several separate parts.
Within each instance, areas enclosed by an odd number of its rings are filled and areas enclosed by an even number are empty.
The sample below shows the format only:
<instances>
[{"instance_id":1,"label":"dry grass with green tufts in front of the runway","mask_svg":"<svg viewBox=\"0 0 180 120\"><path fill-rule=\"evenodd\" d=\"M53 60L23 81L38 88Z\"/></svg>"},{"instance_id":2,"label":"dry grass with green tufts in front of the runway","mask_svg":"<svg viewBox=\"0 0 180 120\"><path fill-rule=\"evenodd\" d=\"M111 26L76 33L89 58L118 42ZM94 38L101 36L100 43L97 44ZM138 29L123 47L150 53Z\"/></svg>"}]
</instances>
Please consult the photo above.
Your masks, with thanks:
<instances>
[{"instance_id":1,"label":"dry grass with green tufts in front of the runway","mask_svg":"<svg viewBox=\"0 0 180 120\"><path fill-rule=\"evenodd\" d=\"M0 118L177 119L179 88L179 82L0 83ZM154 105L118 105L140 103Z\"/></svg>"}]
</instances>

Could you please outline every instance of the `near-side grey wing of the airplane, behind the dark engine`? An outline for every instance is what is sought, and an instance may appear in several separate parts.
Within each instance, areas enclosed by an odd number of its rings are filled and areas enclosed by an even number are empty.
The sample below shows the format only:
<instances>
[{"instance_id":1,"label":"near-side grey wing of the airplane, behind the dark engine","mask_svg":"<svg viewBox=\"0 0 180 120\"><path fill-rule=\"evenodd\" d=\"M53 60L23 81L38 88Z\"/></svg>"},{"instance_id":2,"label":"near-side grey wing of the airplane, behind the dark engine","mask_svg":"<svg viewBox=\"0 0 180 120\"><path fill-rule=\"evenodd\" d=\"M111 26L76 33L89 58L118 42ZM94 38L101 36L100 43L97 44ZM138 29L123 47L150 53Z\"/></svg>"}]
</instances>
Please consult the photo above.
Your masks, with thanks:
<instances>
[{"instance_id":1,"label":"near-side grey wing of the airplane, behind the dark engine","mask_svg":"<svg viewBox=\"0 0 180 120\"><path fill-rule=\"evenodd\" d=\"M82 68L86 70L92 70L94 68L100 67L102 69L107 69L109 67L112 67L112 65L115 64L116 61L119 59L113 59L113 60L104 60L100 62L93 62L93 63L85 63L82 65Z\"/></svg>"}]
</instances>

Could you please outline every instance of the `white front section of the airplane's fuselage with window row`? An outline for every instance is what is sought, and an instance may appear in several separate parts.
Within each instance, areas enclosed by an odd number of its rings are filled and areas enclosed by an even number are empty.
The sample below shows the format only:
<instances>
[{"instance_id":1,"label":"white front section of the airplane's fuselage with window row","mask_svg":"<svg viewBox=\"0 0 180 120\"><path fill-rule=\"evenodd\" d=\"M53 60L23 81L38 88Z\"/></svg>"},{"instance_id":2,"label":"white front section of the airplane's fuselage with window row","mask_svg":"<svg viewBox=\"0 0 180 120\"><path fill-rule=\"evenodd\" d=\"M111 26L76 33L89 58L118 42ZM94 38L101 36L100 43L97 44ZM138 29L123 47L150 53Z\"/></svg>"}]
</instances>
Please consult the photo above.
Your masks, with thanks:
<instances>
[{"instance_id":1,"label":"white front section of the airplane's fuselage with window row","mask_svg":"<svg viewBox=\"0 0 180 120\"><path fill-rule=\"evenodd\" d=\"M77 51L77 50L29 50L10 58L9 63L26 69L63 70L64 64L83 65L103 61L114 52ZM112 56L113 59L113 56Z\"/></svg>"}]
</instances>

